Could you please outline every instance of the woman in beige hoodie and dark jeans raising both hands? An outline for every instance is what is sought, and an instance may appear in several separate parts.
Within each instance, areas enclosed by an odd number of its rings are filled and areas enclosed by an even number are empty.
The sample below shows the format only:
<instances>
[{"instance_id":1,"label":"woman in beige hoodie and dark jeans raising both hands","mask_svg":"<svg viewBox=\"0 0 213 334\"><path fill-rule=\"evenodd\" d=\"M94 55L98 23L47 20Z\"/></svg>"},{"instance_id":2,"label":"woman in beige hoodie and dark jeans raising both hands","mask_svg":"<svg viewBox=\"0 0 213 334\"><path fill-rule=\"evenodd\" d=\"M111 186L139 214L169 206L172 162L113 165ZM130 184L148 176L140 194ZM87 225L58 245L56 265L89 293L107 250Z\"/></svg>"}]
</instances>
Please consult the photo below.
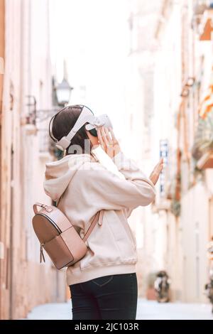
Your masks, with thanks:
<instances>
[{"instance_id":1,"label":"woman in beige hoodie and dark jeans raising both hands","mask_svg":"<svg viewBox=\"0 0 213 334\"><path fill-rule=\"evenodd\" d=\"M59 141L67 136L81 112L80 105L62 109L53 120L53 137ZM72 319L134 320L138 257L127 218L133 209L153 202L163 160L147 178L121 151L111 128L87 131L85 125L72 138L63 158L46 163L44 182L45 193L52 200L60 199L58 208L81 237L96 213L104 212L102 224L97 224L87 239L87 254L66 271ZM98 161L94 149L99 145L124 178Z\"/></svg>"}]
</instances>

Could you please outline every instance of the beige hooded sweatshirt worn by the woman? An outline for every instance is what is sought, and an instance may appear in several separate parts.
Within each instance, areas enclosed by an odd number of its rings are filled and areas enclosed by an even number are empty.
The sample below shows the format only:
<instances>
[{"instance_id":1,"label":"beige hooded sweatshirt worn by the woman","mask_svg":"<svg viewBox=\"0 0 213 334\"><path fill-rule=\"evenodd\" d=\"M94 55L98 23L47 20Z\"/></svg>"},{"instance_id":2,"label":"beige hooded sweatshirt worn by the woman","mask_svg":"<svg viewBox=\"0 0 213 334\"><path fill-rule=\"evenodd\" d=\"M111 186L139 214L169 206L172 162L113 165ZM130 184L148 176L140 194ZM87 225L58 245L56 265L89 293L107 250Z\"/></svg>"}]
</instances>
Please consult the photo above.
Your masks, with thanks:
<instances>
[{"instance_id":1,"label":"beige hooded sweatshirt worn by the woman","mask_svg":"<svg viewBox=\"0 0 213 334\"><path fill-rule=\"evenodd\" d=\"M86 153L46 163L45 193L52 200L63 194L58 208L81 237L96 212L104 210L102 225L97 224L87 239L87 254L67 268L67 285L136 272L136 238L127 218L134 208L153 202L155 187L123 152L113 161L124 178Z\"/></svg>"}]
</instances>

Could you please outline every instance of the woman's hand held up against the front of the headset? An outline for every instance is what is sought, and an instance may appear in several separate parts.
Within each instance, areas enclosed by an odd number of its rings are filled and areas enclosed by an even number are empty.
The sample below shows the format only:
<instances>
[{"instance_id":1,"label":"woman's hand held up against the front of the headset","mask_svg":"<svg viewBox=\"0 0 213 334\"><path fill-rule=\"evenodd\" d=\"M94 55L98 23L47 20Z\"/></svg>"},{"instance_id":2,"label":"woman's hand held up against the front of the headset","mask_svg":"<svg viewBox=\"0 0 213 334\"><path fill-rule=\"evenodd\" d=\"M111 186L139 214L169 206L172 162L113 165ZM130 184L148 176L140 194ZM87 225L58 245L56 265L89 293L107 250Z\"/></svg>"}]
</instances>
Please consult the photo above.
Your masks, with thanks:
<instances>
[{"instance_id":1,"label":"woman's hand held up against the front of the headset","mask_svg":"<svg viewBox=\"0 0 213 334\"><path fill-rule=\"evenodd\" d=\"M113 129L108 129L105 126L100 126L97 129L97 135L99 139L99 144L102 146L102 149L108 154L110 158L114 158L117 153L121 152L119 141L114 136Z\"/></svg>"}]
</instances>

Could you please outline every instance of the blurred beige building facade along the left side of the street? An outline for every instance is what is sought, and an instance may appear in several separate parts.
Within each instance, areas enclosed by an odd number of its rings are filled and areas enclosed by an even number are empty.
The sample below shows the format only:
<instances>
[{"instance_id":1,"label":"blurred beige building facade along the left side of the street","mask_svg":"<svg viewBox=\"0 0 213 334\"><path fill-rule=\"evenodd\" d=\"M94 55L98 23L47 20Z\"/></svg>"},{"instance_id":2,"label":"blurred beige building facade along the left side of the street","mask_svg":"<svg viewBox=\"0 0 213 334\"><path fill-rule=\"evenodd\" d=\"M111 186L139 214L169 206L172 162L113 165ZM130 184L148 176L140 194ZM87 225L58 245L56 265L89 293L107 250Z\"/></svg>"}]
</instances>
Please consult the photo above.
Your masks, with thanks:
<instances>
[{"instance_id":1,"label":"blurred beige building facade along the left side of the street","mask_svg":"<svg viewBox=\"0 0 213 334\"><path fill-rule=\"evenodd\" d=\"M0 4L3 8L4 1ZM40 303L66 298L65 272L56 271L48 259L39 263L40 248L31 222L33 203L50 203L43 192L43 178L45 162L51 156L40 121L40 114L45 113L39 112L52 108L48 18L48 0L7 0L1 11L1 26L5 22L1 36L5 44L0 183L2 319L23 318ZM1 41L1 53L2 45Z\"/></svg>"}]
</instances>

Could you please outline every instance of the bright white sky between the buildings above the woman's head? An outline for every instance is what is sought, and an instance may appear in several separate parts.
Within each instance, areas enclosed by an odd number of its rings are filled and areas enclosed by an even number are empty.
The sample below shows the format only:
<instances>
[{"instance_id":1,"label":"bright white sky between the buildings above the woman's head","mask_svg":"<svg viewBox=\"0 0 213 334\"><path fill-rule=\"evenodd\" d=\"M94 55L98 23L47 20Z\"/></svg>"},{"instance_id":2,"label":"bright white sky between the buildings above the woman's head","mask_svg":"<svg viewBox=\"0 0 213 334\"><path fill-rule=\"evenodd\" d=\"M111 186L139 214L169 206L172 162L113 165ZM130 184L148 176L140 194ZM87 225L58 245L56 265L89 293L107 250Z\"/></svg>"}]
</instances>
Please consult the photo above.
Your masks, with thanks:
<instances>
[{"instance_id":1,"label":"bright white sky between the buildings above the woman's head","mask_svg":"<svg viewBox=\"0 0 213 334\"><path fill-rule=\"evenodd\" d=\"M129 53L127 1L51 0L50 6L52 62L58 81L67 62L70 104L107 112L119 124Z\"/></svg>"}]
</instances>

